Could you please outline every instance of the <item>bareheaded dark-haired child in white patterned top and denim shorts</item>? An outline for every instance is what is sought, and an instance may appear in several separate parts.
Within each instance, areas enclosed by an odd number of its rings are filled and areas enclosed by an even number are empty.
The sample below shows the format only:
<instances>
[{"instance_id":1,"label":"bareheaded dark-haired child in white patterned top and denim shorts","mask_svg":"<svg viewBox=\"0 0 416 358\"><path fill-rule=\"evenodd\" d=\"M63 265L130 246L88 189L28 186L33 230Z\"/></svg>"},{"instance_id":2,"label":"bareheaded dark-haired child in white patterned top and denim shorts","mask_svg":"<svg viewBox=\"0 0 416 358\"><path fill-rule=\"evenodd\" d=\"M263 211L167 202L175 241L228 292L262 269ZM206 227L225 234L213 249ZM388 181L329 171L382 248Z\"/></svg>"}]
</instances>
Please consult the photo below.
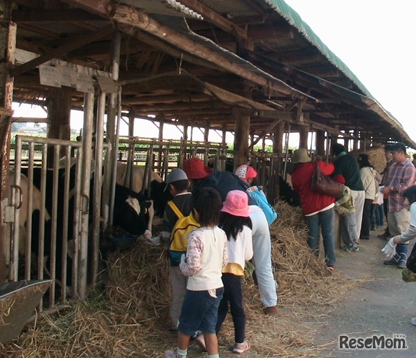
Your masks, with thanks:
<instances>
[{"instance_id":1,"label":"bareheaded dark-haired child in white patterned top and denim shorts","mask_svg":"<svg viewBox=\"0 0 416 358\"><path fill-rule=\"evenodd\" d=\"M187 293L177 327L177 352L166 350L165 357L187 357L189 340L200 330L208 357L218 358L215 325L224 292L221 269L228 262L227 235L218 227L222 203L219 193L212 188L196 190L191 203L201 227L189 235L186 260L182 255L180 262L182 274L189 276Z\"/></svg>"}]
</instances>

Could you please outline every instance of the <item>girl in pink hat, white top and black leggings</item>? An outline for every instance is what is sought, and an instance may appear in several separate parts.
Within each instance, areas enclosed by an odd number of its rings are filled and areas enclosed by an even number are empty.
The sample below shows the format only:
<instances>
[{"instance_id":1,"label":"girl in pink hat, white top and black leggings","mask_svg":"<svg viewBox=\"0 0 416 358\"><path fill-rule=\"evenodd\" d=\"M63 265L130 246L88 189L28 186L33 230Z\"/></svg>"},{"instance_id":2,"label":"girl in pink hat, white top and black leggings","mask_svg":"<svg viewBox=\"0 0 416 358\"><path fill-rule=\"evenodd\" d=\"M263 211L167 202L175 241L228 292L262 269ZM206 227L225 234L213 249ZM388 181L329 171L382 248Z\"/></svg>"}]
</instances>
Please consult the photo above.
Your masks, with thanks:
<instances>
[{"instance_id":1,"label":"girl in pink hat, white top and black leggings","mask_svg":"<svg viewBox=\"0 0 416 358\"><path fill-rule=\"evenodd\" d=\"M250 348L245 341L245 312L243 285L245 261L253 257L252 222L250 220L248 195L241 190L227 194L220 215L220 228L227 234L228 265L223 268L224 294L218 307L216 332L227 316L228 303L234 322L234 353L243 353Z\"/></svg>"}]
</instances>

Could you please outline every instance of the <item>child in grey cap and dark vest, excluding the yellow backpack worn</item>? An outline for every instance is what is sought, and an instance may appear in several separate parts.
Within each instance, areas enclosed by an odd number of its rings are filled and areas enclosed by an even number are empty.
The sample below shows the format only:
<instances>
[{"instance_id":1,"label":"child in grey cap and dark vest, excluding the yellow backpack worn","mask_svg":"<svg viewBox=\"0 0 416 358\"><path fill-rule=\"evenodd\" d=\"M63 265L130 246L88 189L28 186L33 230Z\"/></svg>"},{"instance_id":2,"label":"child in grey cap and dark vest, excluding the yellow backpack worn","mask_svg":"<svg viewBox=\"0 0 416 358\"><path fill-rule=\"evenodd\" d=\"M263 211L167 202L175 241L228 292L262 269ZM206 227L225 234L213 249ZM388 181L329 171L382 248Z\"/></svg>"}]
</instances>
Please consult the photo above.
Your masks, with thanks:
<instances>
[{"instance_id":1,"label":"child in grey cap and dark vest, excluding the yellow backpack worn","mask_svg":"<svg viewBox=\"0 0 416 358\"><path fill-rule=\"evenodd\" d=\"M189 193L189 179L187 174L179 168L173 169L166 177L166 188L173 196L172 202L177 206L182 215L187 216L191 213L191 193ZM177 215L173 212L171 206L166 205L163 217L162 240L167 243L171 238L171 233ZM172 286L172 301L169 308L169 316L171 316L171 330L177 330L177 322L179 319L180 308L184 301L185 292L187 292L187 277L182 274L179 268L179 262L170 257L171 269L169 276Z\"/></svg>"}]
</instances>

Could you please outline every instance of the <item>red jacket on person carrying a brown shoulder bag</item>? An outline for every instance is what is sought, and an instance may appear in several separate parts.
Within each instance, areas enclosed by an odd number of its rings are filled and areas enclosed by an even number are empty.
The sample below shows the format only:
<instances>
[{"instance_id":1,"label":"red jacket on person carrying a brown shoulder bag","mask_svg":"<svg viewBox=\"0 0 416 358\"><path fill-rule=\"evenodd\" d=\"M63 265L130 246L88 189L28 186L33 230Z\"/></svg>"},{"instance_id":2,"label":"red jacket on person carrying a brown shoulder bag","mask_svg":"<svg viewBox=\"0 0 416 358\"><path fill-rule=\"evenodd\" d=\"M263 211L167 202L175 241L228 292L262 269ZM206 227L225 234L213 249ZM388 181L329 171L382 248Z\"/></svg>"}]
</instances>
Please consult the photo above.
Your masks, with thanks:
<instances>
[{"instance_id":1,"label":"red jacket on person carrying a brown shoulder bag","mask_svg":"<svg viewBox=\"0 0 416 358\"><path fill-rule=\"evenodd\" d=\"M331 175L335 169L332 163L325 163L324 161L318 161L317 163L320 170L326 175ZM292 174L293 189L300 196L300 206L304 215L321 211L335 202L334 197L311 190L311 179L314 170L315 163L299 163Z\"/></svg>"}]
</instances>

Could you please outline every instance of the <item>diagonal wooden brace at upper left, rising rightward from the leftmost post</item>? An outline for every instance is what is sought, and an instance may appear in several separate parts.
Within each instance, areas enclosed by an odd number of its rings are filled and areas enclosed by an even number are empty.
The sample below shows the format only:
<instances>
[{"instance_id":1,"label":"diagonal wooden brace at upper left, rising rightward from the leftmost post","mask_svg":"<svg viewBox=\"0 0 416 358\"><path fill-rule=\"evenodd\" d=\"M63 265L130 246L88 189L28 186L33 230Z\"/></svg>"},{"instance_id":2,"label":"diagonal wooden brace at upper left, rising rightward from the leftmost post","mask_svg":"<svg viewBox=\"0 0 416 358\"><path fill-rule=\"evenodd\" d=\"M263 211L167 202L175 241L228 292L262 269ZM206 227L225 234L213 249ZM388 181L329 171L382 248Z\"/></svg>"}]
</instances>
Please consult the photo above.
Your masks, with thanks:
<instances>
[{"instance_id":1,"label":"diagonal wooden brace at upper left, rising rightward from the leftmost post","mask_svg":"<svg viewBox=\"0 0 416 358\"><path fill-rule=\"evenodd\" d=\"M34 69L36 66L39 66L40 64L52 60L53 58L58 58L64 55L65 53L69 53L72 50L75 50L78 47L84 46L86 44L89 44L90 42L96 41L97 39L101 39L107 35L110 35L110 33L113 33L115 30L116 29L113 25L109 25L105 26L104 28L99 28L94 33L73 37L69 39L66 44L54 48L49 53L45 53L40 57L36 57L34 60L26 62L26 64L21 64L20 66L17 66L14 69L10 69L9 75L10 77L16 77L18 75L21 75L21 73L30 71L31 69Z\"/></svg>"}]
</instances>

